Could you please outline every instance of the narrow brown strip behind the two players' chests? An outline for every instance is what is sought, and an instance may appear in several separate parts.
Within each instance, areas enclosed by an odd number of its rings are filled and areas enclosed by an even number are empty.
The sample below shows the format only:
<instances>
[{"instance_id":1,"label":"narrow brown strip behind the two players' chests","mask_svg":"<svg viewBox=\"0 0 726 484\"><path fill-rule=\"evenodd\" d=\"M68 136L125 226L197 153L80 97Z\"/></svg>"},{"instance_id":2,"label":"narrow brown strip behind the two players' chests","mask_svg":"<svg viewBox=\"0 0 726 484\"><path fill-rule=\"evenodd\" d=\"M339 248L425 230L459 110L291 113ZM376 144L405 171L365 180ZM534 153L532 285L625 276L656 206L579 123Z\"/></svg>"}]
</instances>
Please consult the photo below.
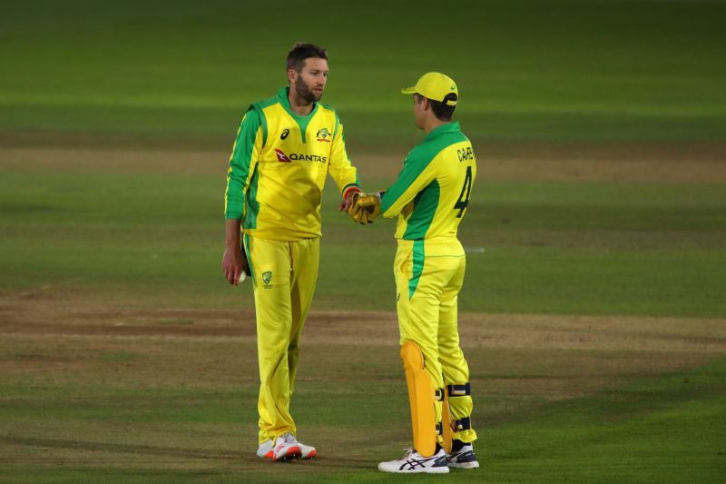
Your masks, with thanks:
<instances>
[{"instance_id":1,"label":"narrow brown strip behind the two players' chests","mask_svg":"<svg viewBox=\"0 0 726 484\"><path fill-rule=\"evenodd\" d=\"M44 145L45 146L45 145ZM375 151L370 151L375 148ZM402 146L352 147L362 180L393 178L406 156ZM723 183L726 143L478 143L486 180ZM226 173L229 147L156 147L112 144L37 147L5 144L7 170L96 173Z\"/></svg>"}]
</instances>

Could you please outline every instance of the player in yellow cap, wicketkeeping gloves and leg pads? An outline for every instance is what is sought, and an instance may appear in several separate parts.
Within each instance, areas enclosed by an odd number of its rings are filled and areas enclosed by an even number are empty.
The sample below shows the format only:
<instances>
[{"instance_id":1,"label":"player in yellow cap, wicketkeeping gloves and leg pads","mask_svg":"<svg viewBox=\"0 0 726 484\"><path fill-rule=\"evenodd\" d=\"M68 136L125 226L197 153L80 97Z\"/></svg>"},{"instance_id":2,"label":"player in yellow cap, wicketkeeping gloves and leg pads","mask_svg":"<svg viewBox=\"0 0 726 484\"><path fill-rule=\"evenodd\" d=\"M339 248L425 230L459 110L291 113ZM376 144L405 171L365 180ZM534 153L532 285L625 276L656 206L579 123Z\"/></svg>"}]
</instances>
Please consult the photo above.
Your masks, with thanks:
<instances>
[{"instance_id":1,"label":"player in yellow cap, wicketkeeping gloves and leg pads","mask_svg":"<svg viewBox=\"0 0 726 484\"><path fill-rule=\"evenodd\" d=\"M380 213L398 217L394 274L414 446L403 459L381 462L378 469L476 469L469 369L456 321L466 268L456 231L469 204L476 158L459 123L451 121L458 89L450 77L424 74L401 93L413 94L416 125L426 137L408 153L388 190L356 194L349 210L361 223Z\"/></svg>"}]
</instances>

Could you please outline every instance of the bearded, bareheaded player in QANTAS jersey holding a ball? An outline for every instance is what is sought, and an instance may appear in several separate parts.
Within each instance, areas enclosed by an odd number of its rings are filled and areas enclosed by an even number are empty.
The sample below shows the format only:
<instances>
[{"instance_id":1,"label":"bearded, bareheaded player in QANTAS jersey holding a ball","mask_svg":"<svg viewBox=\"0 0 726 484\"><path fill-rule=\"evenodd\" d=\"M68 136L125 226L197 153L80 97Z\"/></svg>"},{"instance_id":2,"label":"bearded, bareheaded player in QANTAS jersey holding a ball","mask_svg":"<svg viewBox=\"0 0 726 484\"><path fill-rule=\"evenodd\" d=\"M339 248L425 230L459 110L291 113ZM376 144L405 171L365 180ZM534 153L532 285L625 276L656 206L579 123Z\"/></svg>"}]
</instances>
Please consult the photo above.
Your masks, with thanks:
<instances>
[{"instance_id":1,"label":"bearded, bareheaded player in QANTAS jersey holding a ball","mask_svg":"<svg viewBox=\"0 0 726 484\"><path fill-rule=\"evenodd\" d=\"M289 86L250 105L227 174L221 265L231 284L243 273L253 283L260 365L257 455L267 459L317 455L296 439L289 401L300 334L318 279L320 198L328 173L342 195L338 211L348 211L352 194L360 192L343 124L333 108L319 103L328 71L325 49L293 47Z\"/></svg>"}]
</instances>

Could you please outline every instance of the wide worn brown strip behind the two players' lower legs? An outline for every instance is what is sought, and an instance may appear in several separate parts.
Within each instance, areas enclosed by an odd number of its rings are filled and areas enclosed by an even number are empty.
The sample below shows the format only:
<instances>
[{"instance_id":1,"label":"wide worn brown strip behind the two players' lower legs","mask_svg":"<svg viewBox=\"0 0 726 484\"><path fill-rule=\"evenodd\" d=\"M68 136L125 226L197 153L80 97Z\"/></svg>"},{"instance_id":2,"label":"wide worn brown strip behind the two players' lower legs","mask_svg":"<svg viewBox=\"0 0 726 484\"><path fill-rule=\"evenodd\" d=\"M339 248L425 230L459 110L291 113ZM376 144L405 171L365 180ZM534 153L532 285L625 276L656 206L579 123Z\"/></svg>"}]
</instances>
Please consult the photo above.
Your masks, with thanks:
<instances>
[{"instance_id":1,"label":"wide worn brown strip behind the two players' lower legs","mask_svg":"<svg viewBox=\"0 0 726 484\"><path fill-rule=\"evenodd\" d=\"M487 391L505 392L525 384L534 393L557 398L581 395L607 380L706 361L726 351L725 323L633 316L459 317L473 380L486 380ZM154 372L163 373L168 382L182 382L190 378L185 359L193 357L202 360L198 362L204 369L194 377L196 382L229 385L224 374L228 370L218 370L213 363L233 356L235 347L254 349L255 321L252 311L106 308L48 295L1 301L0 335L5 353L0 370L5 375L59 366L82 370L84 361L93 360L80 357L84 351L109 353L112 361L126 358L114 351L151 351L155 359L166 361L164 367L149 368L143 358L129 356L124 364L134 369L130 383L134 377L154 378ZM68 341L75 341L70 346L77 351L55 351ZM385 311L313 311L303 337L305 358L320 367L336 365L350 351L394 354L397 344L396 315ZM199 345L209 354L196 351ZM255 381L256 354L246 350L239 357L240 364L250 367L243 380ZM99 364L103 361L93 360L95 368Z\"/></svg>"}]
</instances>

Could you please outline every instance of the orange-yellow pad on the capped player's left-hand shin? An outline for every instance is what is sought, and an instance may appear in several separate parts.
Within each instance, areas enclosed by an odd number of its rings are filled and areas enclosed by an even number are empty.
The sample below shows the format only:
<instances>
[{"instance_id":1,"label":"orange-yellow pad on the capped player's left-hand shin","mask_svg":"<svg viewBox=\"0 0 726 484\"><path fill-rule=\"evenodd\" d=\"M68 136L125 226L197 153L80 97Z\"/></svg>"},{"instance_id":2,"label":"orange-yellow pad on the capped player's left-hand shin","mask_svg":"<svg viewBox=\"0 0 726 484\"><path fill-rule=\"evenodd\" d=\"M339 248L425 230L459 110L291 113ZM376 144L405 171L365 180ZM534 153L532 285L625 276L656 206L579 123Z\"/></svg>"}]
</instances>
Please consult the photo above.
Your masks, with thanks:
<instances>
[{"instance_id":1,"label":"orange-yellow pad on the capped player's left-hand shin","mask_svg":"<svg viewBox=\"0 0 726 484\"><path fill-rule=\"evenodd\" d=\"M401 346L401 360L406 373L408 402L411 406L411 429L414 449L424 457L431 457L437 448L436 390L426 370L424 353L414 341Z\"/></svg>"}]
</instances>

